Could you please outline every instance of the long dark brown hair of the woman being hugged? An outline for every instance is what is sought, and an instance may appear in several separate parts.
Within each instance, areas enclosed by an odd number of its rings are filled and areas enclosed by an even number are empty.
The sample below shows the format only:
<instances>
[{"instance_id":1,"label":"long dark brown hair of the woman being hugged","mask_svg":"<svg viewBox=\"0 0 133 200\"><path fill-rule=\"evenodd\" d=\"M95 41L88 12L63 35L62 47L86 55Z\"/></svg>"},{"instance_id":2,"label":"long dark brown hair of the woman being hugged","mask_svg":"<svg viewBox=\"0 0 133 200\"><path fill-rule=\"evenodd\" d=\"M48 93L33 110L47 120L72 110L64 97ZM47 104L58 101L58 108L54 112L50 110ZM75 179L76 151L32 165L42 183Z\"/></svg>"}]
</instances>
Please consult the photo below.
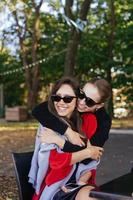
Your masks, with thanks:
<instances>
[{"instance_id":1,"label":"long dark brown hair of the woman being hugged","mask_svg":"<svg viewBox=\"0 0 133 200\"><path fill-rule=\"evenodd\" d=\"M57 116L59 119L65 121L66 123L68 123L71 128L73 128L75 131L78 131L80 132L80 124L81 124L81 120L80 120L80 116L79 116L79 113L77 111L77 109L75 108L75 110L73 111L72 115L71 115L71 118L70 119L67 119L65 117L60 117L58 115L58 113L56 112L56 109L55 109L55 106L54 106L54 103L51 99L51 96L56 94L56 92L59 90L59 88L64 85L64 84L68 84L69 86L72 87L75 95L77 96L78 95L78 91L79 91L79 83L72 77L62 77L61 79L59 79L53 86L52 90L51 90L51 93L49 95L49 98L48 98L48 108L49 108L49 111L54 114L55 116Z\"/></svg>"}]
</instances>

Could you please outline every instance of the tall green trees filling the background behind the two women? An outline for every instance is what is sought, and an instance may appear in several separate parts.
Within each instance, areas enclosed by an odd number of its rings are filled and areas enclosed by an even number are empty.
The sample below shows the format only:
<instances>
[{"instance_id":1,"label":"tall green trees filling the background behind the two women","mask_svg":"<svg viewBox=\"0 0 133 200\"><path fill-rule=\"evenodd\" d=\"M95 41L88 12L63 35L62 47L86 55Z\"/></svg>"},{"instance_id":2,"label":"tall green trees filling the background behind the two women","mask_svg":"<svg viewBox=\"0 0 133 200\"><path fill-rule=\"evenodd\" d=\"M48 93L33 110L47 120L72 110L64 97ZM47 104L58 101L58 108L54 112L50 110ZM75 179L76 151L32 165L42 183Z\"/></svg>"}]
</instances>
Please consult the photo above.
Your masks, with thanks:
<instances>
[{"instance_id":1,"label":"tall green trees filling the background behind the two women","mask_svg":"<svg viewBox=\"0 0 133 200\"><path fill-rule=\"evenodd\" d=\"M76 75L83 82L96 76L105 77L113 88L122 88L132 107L131 0L50 0L50 12L40 10L40 0L2 1L8 3L14 21L1 36L1 51L6 41L16 41L15 64L24 70L26 84L23 78L18 76L17 79L20 85L23 81L26 86L30 110L39 99L38 91L63 73ZM80 25L84 21L87 24L83 31ZM42 59L43 62L38 62ZM9 66L3 65L3 70L5 66L14 69L14 61L10 61ZM17 81L12 77L14 80L5 79L5 85L10 86L8 81ZM7 94L10 94L8 88ZM15 99L13 104L16 104Z\"/></svg>"}]
</instances>

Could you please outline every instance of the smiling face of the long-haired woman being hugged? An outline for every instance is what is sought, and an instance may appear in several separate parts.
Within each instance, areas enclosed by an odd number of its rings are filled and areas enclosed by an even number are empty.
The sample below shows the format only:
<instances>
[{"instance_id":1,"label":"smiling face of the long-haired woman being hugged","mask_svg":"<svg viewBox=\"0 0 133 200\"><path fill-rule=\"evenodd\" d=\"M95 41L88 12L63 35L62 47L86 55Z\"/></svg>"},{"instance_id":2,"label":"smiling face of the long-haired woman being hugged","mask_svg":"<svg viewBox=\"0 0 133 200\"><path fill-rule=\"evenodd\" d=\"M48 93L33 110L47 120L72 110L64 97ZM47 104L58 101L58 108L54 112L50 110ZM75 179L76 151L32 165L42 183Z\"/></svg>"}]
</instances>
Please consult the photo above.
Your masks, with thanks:
<instances>
[{"instance_id":1,"label":"smiling face of the long-haired woman being hugged","mask_svg":"<svg viewBox=\"0 0 133 200\"><path fill-rule=\"evenodd\" d=\"M72 87L68 84L63 84L57 91L56 94L60 97L76 97ZM54 107L56 112L61 117L70 118L76 106L76 98L73 98L70 103L65 103L63 99L60 101L54 101Z\"/></svg>"}]
</instances>

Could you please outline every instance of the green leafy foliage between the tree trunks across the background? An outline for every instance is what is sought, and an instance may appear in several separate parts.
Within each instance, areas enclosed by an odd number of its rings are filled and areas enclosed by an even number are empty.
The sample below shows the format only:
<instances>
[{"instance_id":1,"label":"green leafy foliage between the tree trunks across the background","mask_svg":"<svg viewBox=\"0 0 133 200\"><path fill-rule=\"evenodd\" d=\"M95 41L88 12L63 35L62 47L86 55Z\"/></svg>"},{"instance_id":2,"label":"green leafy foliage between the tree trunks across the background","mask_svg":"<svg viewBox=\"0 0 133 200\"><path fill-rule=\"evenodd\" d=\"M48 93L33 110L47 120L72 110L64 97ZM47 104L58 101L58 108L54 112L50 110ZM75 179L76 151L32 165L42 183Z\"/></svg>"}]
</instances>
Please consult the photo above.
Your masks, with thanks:
<instances>
[{"instance_id":1,"label":"green leafy foliage between the tree trunks across the background","mask_svg":"<svg viewBox=\"0 0 133 200\"><path fill-rule=\"evenodd\" d=\"M28 63L32 62L32 25L34 9L31 1L24 1L28 7L25 12L28 14L28 32L26 35L26 51ZM83 1L78 1L73 7L75 10L75 21L78 8ZM112 72L113 88L122 88L122 93L127 97L127 102L131 105L133 100L133 7L131 0L115 1L115 36L113 43L113 59L109 58L109 34L110 34L110 8L108 0L95 0L91 6L87 17L87 26L82 34L77 60L75 64L75 75L80 82L88 81L95 76L107 77L108 71ZM62 18L61 14L53 15L53 11L60 9L60 1L50 1L51 13L43 11L40 21L40 40L38 44L38 60L45 59L40 63L40 90L43 86L54 82L63 75L65 51L69 38L68 30L70 27ZM94 6L95 5L95 6ZM77 6L77 7L76 7ZM76 10L77 8L77 10ZM24 22L23 15L20 16ZM23 23L22 23L23 25ZM6 30L10 36L8 39L15 40L16 29L12 25ZM12 36L12 37L11 37ZM11 42L11 40L10 40ZM10 56L8 52L0 54L0 72L22 67L20 50L17 48L17 56ZM60 53L61 52L61 53ZM59 53L59 54L57 54ZM34 70L34 67L33 67ZM2 80L5 87L5 102L7 105L23 104L25 102L25 83L23 73L9 74Z\"/></svg>"}]
</instances>

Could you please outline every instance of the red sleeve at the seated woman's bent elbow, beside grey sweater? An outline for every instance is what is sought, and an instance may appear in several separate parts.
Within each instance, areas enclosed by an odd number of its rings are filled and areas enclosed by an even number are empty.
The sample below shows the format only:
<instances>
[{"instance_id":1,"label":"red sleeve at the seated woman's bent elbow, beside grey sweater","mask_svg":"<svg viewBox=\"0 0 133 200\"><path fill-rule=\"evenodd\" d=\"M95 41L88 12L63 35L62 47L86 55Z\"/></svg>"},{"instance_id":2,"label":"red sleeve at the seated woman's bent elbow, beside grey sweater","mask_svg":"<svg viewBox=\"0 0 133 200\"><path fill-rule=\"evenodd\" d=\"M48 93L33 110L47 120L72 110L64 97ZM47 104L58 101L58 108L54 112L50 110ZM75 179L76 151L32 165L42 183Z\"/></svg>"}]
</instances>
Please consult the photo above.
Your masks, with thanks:
<instances>
[{"instance_id":1,"label":"red sleeve at the seated woman's bent elbow, beside grey sweater","mask_svg":"<svg viewBox=\"0 0 133 200\"><path fill-rule=\"evenodd\" d=\"M46 177L46 185L51 185L67 177L72 169L72 153L58 153L55 149L50 152L50 172Z\"/></svg>"}]
</instances>

